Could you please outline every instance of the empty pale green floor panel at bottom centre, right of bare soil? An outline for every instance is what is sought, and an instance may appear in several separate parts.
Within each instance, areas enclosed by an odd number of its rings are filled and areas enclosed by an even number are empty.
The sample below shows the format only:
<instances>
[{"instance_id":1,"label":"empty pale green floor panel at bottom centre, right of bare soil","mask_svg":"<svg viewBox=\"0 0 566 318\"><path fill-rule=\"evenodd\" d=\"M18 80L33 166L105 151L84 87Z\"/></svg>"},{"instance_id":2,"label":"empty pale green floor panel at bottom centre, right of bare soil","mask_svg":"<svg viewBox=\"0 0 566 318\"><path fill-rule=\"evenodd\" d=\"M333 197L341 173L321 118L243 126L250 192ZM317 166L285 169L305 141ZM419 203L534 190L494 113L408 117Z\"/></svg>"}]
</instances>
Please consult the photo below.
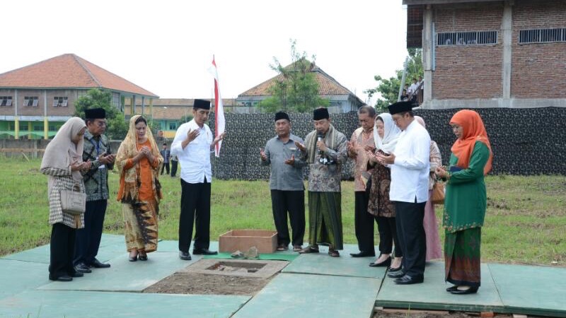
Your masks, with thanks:
<instances>
[{"instance_id":1,"label":"empty pale green floor panel at bottom centre, right of bare soil","mask_svg":"<svg viewBox=\"0 0 566 318\"><path fill-rule=\"evenodd\" d=\"M282 273L233 317L371 317L380 283L376 278Z\"/></svg>"}]
</instances>

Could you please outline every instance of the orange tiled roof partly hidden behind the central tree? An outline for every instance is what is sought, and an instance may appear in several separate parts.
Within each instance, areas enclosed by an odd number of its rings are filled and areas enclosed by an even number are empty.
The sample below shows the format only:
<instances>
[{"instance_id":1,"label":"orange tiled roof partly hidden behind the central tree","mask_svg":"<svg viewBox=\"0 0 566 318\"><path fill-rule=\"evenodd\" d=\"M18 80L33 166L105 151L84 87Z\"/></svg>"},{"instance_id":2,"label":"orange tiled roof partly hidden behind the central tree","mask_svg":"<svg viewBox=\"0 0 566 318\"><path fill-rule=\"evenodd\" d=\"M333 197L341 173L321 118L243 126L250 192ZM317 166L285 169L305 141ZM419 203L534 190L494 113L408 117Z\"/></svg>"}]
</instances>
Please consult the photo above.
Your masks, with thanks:
<instances>
[{"instance_id":1,"label":"orange tiled roof partly hidden behind the central tree","mask_svg":"<svg viewBox=\"0 0 566 318\"><path fill-rule=\"evenodd\" d=\"M291 67L292 64L285 66L285 69ZM328 75L320 69L315 64L311 64L311 72L315 74L316 83L318 83L318 95L354 95L347 88L338 83L332 76ZM275 84L276 81L282 81L282 74L278 74L275 77L268 79L267 81L260 83L258 86L254 86L249 90L238 95L238 98L242 96L269 96L269 89Z\"/></svg>"}]
</instances>

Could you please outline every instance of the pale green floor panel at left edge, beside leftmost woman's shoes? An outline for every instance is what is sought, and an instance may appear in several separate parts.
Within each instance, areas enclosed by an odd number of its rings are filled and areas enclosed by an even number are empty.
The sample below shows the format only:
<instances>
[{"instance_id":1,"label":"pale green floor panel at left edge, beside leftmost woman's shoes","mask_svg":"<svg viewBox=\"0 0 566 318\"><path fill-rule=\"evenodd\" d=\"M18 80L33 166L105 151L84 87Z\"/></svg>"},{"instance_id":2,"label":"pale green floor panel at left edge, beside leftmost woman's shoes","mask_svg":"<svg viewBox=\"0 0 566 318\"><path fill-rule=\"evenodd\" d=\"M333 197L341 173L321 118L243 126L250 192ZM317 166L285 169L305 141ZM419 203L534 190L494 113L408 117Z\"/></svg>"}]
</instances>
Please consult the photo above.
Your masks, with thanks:
<instances>
[{"instance_id":1,"label":"pale green floor panel at left edge, beside leftmost woman's shoes","mask_svg":"<svg viewBox=\"0 0 566 318\"><path fill-rule=\"evenodd\" d=\"M43 263L0 259L0 298L49 283L47 267Z\"/></svg>"}]
</instances>

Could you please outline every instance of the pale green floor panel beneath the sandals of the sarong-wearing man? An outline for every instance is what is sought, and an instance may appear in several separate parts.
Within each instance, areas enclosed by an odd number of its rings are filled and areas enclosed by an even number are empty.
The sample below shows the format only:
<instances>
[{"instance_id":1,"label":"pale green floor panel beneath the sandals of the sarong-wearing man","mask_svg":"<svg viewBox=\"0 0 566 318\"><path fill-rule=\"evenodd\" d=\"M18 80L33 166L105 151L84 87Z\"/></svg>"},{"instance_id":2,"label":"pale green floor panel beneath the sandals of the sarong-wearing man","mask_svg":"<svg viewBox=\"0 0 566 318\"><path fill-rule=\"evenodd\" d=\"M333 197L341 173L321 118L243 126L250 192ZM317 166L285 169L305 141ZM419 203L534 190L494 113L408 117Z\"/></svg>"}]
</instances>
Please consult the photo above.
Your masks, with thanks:
<instances>
[{"instance_id":1,"label":"pale green floor panel beneath the sandals of the sarong-wearing man","mask_svg":"<svg viewBox=\"0 0 566 318\"><path fill-rule=\"evenodd\" d=\"M328 247L320 247L320 253L301 254L285 267L283 272L369 278L385 276L386 268L369 267L369 263L374 261L375 257L351 257L352 252L359 252L357 246L345 246L345 249L340 251L340 257L330 257Z\"/></svg>"}]
</instances>

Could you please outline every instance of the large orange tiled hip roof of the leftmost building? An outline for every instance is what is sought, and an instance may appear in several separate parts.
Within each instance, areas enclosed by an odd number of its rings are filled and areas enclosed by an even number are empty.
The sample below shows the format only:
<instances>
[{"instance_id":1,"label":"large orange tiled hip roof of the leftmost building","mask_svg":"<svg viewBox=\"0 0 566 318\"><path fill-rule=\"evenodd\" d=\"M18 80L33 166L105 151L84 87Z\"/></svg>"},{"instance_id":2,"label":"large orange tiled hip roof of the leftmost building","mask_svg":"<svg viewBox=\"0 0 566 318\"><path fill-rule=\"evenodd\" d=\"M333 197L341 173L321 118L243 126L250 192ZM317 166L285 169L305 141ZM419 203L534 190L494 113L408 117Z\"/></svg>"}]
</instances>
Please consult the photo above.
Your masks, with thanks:
<instances>
[{"instance_id":1,"label":"large orange tiled hip roof of the leftmost building","mask_svg":"<svg viewBox=\"0 0 566 318\"><path fill-rule=\"evenodd\" d=\"M75 54L63 54L0 74L6 88L106 88L125 93L158 96L92 64Z\"/></svg>"}]
</instances>

